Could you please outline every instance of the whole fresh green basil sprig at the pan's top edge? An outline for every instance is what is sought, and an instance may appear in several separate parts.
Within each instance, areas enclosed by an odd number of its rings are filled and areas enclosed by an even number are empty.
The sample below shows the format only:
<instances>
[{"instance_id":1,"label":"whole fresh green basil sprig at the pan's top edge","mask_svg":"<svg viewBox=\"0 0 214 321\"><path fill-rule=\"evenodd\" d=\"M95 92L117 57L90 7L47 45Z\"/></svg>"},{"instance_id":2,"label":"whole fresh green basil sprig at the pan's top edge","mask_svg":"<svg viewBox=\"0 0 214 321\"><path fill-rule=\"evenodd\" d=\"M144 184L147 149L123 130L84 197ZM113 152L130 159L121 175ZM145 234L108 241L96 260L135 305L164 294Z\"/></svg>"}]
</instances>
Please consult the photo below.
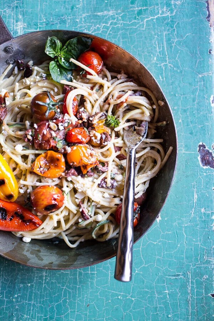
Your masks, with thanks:
<instances>
[{"instance_id":1,"label":"whole fresh green basil sprig at the pan's top edge","mask_svg":"<svg viewBox=\"0 0 214 321\"><path fill-rule=\"evenodd\" d=\"M56 82L73 80L72 69L75 69L76 65L70 59L77 59L83 52L88 50L92 40L91 38L79 36L68 40L63 47L61 41L56 37L47 38L45 52L48 56L55 58L49 65L53 80Z\"/></svg>"}]
</instances>

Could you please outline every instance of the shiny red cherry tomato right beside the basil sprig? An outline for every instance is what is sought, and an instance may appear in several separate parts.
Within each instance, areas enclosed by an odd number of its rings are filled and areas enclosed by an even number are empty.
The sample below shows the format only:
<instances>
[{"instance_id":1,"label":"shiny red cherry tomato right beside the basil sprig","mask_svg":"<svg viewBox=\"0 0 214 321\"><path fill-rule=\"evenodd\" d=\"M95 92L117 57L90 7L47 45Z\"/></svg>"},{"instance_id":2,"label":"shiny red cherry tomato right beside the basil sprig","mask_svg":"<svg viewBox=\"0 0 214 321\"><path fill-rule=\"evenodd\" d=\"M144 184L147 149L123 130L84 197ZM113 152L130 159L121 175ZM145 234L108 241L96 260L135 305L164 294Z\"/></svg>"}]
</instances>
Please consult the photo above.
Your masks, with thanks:
<instances>
[{"instance_id":1,"label":"shiny red cherry tomato right beside the basil sprig","mask_svg":"<svg viewBox=\"0 0 214 321\"><path fill-rule=\"evenodd\" d=\"M100 73L103 66L102 58L96 52L90 50L83 52L77 60L95 71L96 74ZM91 75L88 71L86 71L86 74Z\"/></svg>"}]
</instances>

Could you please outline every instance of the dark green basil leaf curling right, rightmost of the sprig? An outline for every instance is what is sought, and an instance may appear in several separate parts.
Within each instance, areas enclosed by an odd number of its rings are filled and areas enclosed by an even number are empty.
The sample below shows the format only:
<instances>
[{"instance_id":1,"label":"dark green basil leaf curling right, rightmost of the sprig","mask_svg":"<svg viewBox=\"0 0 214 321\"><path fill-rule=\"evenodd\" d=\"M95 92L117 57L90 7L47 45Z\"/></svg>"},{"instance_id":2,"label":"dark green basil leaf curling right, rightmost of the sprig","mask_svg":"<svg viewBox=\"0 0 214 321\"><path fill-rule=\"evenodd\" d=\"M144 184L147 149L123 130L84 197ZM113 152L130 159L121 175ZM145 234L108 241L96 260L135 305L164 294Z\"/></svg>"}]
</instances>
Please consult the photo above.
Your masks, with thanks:
<instances>
[{"instance_id":1,"label":"dark green basil leaf curling right, rightmost of the sprig","mask_svg":"<svg viewBox=\"0 0 214 321\"><path fill-rule=\"evenodd\" d=\"M67 69L76 69L76 65L70 58L77 59L84 51L90 48L93 39L86 37L76 37L66 42L58 57L59 63Z\"/></svg>"}]
</instances>

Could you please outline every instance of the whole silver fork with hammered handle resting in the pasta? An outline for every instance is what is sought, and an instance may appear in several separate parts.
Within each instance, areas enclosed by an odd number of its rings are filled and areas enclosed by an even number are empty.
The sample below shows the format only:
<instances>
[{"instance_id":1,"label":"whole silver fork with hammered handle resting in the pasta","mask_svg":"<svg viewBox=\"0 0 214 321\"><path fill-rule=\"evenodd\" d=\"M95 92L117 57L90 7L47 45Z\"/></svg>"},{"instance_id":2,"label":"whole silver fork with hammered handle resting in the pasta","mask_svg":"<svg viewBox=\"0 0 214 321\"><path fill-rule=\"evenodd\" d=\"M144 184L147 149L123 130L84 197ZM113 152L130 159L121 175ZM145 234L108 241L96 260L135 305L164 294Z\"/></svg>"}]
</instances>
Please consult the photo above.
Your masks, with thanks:
<instances>
[{"instance_id":1,"label":"whole silver fork with hammered handle resting in the pasta","mask_svg":"<svg viewBox=\"0 0 214 321\"><path fill-rule=\"evenodd\" d=\"M116 255L115 279L129 282L132 279L133 207L136 149L147 135L148 122L144 121L135 130L124 130L124 142L128 147L120 231Z\"/></svg>"}]
</instances>

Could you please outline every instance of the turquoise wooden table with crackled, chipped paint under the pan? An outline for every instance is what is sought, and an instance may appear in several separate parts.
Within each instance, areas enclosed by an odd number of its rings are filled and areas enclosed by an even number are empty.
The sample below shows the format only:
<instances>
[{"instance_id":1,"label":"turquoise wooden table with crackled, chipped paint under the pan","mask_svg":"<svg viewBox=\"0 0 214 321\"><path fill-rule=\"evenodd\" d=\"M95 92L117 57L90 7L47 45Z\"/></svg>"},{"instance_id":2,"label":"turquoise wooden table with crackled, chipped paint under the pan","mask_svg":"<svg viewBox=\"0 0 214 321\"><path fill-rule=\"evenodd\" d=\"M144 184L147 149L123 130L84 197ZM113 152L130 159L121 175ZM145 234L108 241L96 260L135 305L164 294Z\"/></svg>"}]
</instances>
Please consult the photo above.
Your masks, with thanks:
<instances>
[{"instance_id":1,"label":"turquoise wooden table with crackled, chipped paint under the pan","mask_svg":"<svg viewBox=\"0 0 214 321\"><path fill-rule=\"evenodd\" d=\"M87 31L131 52L161 85L179 143L167 203L134 246L132 282L114 279L115 258L49 271L1 257L0 319L213 320L214 53L205 1L0 0L0 8L13 36Z\"/></svg>"}]
</instances>

